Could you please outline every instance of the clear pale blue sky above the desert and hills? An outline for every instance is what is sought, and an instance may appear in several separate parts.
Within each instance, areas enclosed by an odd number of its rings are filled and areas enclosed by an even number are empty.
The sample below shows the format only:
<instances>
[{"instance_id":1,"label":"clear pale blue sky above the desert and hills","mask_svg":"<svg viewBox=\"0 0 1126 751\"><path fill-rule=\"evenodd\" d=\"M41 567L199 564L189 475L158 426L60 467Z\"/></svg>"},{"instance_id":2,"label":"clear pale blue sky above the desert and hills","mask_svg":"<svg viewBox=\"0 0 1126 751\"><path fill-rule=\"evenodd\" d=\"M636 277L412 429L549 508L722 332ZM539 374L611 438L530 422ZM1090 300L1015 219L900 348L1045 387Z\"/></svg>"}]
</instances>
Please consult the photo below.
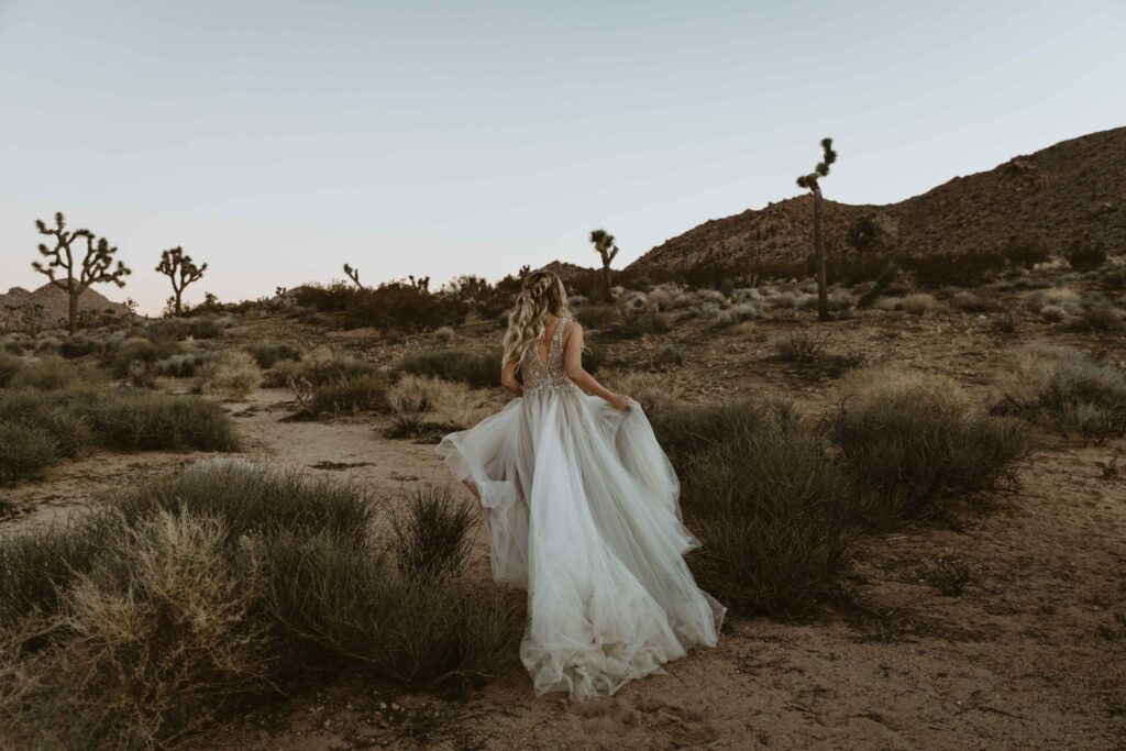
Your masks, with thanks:
<instances>
[{"instance_id":1,"label":"clear pale blue sky above the desert and hills","mask_svg":"<svg viewBox=\"0 0 1126 751\"><path fill-rule=\"evenodd\" d=\"M888 203L1126 125L1124 0L0 0L0 292L63 211L155 313L182 245L277 286L617 266L796 195Z\"/></svg>"}]
</instances>

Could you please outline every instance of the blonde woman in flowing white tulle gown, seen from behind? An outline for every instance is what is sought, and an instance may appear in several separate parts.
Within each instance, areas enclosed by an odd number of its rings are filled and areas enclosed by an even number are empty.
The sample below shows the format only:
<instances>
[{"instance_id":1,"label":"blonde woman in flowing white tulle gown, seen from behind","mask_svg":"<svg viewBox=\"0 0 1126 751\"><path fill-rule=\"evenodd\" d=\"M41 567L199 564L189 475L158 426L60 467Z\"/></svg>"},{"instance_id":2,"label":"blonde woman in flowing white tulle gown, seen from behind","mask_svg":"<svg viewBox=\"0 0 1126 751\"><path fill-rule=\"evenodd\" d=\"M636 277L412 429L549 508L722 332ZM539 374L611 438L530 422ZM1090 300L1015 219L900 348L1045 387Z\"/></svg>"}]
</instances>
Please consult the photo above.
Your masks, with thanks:
<instances>
[{"instance_id":1,"label":"blonde woman in flowing white tulle gown, seen from behind","mask_svg":"<svg viewBox=\"0 0 1126 751\"><path fill-rule=\"evenodd\" d=\"M517 399L438 446L488 509L493 578L528 590L536 692L578 700L714 646L725 613L683 561L699 543L641 406L587 373L582 349L562 280L533 271L504 334Z\"/></svg>"}]
</instances>

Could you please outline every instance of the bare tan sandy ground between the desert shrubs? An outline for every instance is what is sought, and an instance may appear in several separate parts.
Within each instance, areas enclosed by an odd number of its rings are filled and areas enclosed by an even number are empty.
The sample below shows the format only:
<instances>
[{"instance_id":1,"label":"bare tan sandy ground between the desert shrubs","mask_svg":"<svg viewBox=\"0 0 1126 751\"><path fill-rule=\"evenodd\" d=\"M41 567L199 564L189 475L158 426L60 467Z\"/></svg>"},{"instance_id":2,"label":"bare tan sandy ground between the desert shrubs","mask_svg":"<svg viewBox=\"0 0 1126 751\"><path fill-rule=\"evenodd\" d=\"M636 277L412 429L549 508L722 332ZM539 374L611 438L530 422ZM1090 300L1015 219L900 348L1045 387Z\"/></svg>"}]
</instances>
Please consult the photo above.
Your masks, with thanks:
<instances>
[{"instance_id":1,"label":"bare tan sandy ground between the desert shrubs","mask_svg":"<svg viewBox=\"0 0 1126 751\"><path fill-rule=\"evenodd\" d=\"M973 316L885 320L832 324L833 346L869 363L942 372L984 394L1006 350L1019 343L999 341ZM824 379L768 359L770 336L788 325L771 324L761 337L695 340L678 330L686 347L697 343L690 363L667 377L690 400L769 391L820 409L833 400ZM224 346L266 333L235 330ZM614 343L611 364L644 361L659 343ZM376 347L364 332L336 345L377 360L421 346ZM361 482L392 498L404 484L450 482L430 446L383 438L385 418L284 422L287 400L282 390L258 391L227 405L248 457ZM988 515L964 513L959 531L929 526L864 540L846 582L855 613L804 623L731 619L718 647L696 650L667 674L609 699L538 698L513 652L513 670L470 697L319 685L230 719L196 745L1126 748L1126 625L1115 619L1126 614L1126 480L1103 479L1098 464L1116 454L1126 454L1126 441L1083 447L1045 436L1019 470L1019 494ZM81 509L106 490L198 456L101 453L61 465L44 481L0 491L17 511L0 529ZM488 576L483 529L475 551L473 575ZM950 554L971 563L962 597L933 585L933 566Z\"/></svg>"}]
</instances>

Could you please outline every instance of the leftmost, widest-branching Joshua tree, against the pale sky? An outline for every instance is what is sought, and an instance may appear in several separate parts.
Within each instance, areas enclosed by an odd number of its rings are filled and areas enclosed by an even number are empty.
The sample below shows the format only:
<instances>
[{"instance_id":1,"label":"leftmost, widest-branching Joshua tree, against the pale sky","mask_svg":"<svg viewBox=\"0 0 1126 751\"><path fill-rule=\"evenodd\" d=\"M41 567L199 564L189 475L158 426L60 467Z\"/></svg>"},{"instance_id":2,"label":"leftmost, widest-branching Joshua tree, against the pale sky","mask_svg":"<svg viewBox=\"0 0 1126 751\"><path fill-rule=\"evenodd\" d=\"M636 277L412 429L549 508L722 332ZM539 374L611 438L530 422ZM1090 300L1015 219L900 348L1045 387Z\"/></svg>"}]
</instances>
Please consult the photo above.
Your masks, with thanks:
<instances>
[{"instance_id":1,"label":"leftmost, widest-branching Joshua tree, against the pale sky","mask_svg":"<svg viewBox=\"0 0 1126 751\"><path fill-rule=\"evenodd\" d=\"M117 261L114 267L114 254L117 248L109 244L105 238L93 241L93 233L89 230L66 230L66 220L62 212L55 213L55 225L48 227L43 220L35 220L35 229L39 234L55 239L55 247L48 248L45 243L39 243L39 254L46 259L33 261L32 268L43 274L51 284L66 293L70 303L68 312L68 324L70 333L73 336L78 331L78 298L91 284L110 283L118 287L125 286L125 277L132 271L125 265ZM86 240L86 253L81 260L77 259L75 252L81 248L75 247L79 241ZM65 276L64 276L65 275Z\"/></svg>"}]
</instances>

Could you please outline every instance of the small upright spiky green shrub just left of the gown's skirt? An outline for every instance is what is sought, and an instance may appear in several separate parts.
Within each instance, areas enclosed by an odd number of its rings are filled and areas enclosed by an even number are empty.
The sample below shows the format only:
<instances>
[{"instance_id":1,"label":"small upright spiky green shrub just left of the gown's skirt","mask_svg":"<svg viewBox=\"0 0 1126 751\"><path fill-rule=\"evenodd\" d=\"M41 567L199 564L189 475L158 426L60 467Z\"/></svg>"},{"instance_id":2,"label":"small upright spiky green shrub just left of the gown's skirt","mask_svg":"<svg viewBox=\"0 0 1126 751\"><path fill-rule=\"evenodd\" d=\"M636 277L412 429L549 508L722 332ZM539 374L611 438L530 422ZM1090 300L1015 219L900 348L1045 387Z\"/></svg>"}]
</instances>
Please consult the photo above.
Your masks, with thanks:
<instances>
[{"instance_id":1,"label":"small upright spiky green shrub just left of the gown's skirt","mask_svg":"<svg viewBox=\"0 0 1126 751\"><path fill-rule=\"evenodd\" d=\"M409 576L446 576L464 571L477 515L440 485L417 485L393 516L392 553Z\"/></svg>"}]
</instances>

